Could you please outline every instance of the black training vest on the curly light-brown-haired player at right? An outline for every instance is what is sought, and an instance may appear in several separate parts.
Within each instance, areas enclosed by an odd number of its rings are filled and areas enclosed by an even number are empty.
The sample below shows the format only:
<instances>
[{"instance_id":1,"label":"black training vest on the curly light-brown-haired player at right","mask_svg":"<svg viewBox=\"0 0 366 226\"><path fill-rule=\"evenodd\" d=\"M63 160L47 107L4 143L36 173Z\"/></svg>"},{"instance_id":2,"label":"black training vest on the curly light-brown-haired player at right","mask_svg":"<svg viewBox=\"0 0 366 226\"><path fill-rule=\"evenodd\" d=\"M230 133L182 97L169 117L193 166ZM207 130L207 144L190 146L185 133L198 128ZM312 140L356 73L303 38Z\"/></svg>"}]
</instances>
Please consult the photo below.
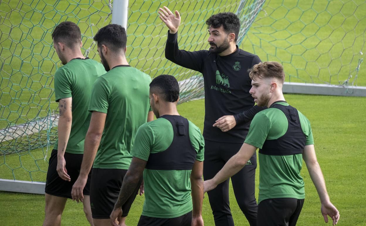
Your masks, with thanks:
<instances>
[{"instance_id":1,"label":"black training vest on the curly light-brown-haired player at right","mask_svg":"<svg viewBox=\"0 0 366 226\"><path fill-rule=\"evenodd\" d=\"M276 101L284 102L286 101ZM296 108L288 105L272 104L270 108L280 109L287 118L288 129L286 133L276 140L265 140L262 149L259 149L259 153L264 155L295 155L302 154L306 136L302 131L299 113Z\"/></svg>"}]
</instances>

